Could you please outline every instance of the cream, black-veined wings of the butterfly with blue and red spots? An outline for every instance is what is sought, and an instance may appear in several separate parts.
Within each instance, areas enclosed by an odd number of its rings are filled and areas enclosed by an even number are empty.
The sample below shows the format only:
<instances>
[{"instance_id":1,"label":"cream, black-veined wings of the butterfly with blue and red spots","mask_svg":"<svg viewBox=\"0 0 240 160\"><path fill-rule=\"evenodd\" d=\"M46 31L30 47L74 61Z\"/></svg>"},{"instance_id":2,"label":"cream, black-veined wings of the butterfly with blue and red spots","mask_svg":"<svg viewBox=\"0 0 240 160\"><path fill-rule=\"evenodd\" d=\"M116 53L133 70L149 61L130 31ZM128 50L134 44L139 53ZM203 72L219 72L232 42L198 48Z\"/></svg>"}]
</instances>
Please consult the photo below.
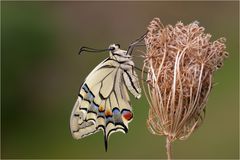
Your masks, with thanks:
<instances>
[{"instance_id":1,"label":"cream, black-veined wings of the butterfly with blue and red spots","mask_svg":"<svg viewBox=\"0 0 240 160\"><path fill-rule=\"evenodd\" d=\"M106 59L86 78L70 118L75 139L103 130L105 148L111 133L128 131L132 108L119 63Z\"/></svg>"}]
</instances>

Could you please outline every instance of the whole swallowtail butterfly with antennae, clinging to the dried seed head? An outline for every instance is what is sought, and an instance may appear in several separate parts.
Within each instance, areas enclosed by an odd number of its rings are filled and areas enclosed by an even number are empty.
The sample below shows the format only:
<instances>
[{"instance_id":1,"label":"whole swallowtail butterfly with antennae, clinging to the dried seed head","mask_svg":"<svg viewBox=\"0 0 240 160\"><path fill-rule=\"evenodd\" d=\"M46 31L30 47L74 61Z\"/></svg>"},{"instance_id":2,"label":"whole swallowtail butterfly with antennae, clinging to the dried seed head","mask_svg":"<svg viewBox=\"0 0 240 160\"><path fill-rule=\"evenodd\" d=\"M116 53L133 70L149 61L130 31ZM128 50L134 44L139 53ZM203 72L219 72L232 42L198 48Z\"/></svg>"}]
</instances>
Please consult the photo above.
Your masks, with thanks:
<instances>
[{"instance_id":1,"label":"whole swallowtail butterfly with antennae, clinging to the dried seed head","mask_svg":"<svg viewBox=\"0 0 240 160\"><path fill-rule=\"evenodd\" d=\"M141 97L131 53L145 36L131 43L127 51L120 49L119 44L111 44L104 50L89 47L80 49L80 52L109 51L109 57L90 72L80 87L70 117L70 130L74 139L102 130L107 151L112 133L128 132L128 123L133 119L128 91L137 99Z\"/></svg>"}]
</instances>

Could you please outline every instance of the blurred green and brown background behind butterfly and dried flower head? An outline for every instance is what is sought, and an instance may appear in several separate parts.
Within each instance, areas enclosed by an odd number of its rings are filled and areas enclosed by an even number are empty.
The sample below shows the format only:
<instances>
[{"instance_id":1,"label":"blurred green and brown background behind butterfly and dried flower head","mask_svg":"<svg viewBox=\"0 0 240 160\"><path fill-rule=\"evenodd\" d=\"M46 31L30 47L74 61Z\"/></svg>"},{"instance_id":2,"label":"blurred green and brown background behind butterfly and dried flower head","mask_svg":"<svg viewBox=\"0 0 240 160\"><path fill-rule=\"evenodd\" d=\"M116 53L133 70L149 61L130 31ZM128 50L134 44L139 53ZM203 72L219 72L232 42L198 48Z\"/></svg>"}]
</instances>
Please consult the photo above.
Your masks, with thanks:
<instances>
[{"instance_id":1,"label":"blurred green and brown background behind butterfly and dried flower head","mask_svg":"<svg viewBox=\"0 0 240 160\"><path fill-rule=\"evenodd\" d=\"M129 133L76 141L69 117L79 86L108 53L77 55L80 46L122 48L154 17L164 24L198 20L212 40L225 36L230 57L203 125L173 143L174 158L239 157L239 2L1 2L2 158L166 158L165 138L146 128L146 99L132 105ZM136 55L136 54L135 54ZM135 58L141 67L142 59Z\"/></svg>"}]
</instances>

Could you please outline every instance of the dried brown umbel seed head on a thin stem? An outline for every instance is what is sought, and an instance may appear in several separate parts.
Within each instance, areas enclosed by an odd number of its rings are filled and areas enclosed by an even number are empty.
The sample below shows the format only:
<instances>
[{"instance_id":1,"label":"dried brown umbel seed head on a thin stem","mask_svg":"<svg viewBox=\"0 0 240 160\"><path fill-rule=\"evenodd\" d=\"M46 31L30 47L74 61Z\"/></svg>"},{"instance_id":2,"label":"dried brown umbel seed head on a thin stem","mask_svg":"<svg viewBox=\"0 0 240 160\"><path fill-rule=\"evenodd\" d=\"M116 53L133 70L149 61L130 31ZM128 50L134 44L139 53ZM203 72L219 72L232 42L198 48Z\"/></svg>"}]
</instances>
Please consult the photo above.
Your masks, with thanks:
<instances>
[{"instance_id":1,"label":"dried brown umbel seed head on a thin stem","mask_svg":"<svg viewBox=\"0 0 240 160\"><path fill-rule=\"evenodd\" d=\"M228 56L225 39L210 38L198 22L163 26L154 18L148 26L147 125L151 133L167 137L169 158L170 143L186 139L203 121L213 73Z\"/></svg>"}]
</instances>

